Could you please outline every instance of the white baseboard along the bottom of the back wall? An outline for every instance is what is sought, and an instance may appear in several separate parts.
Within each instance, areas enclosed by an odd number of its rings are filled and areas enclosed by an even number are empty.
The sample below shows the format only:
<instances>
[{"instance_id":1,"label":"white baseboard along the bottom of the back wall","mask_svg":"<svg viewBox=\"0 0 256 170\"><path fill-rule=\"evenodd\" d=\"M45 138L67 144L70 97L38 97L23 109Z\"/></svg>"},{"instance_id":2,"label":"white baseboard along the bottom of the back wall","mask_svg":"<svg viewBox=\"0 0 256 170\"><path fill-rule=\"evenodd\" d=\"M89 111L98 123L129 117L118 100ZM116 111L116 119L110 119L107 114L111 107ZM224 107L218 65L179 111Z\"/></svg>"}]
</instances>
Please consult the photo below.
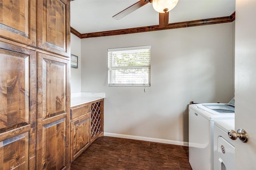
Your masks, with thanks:
<instances>
[{"instance_id":1,"label":"white baseboard along the bottom of the back wall","mask_svg":"<svg viewBox=\"0 0 256 170\"><path fill-rule=\"evenodd\" d=\"M166 140L166 139L157 139L157 138L140 137L140 136L132 136L132 135L122 135L122 134L106 133L106 132L104 132L104 136L120 137L120 138L134 139L134 140L140 140L140 141L167 143L167 144L172 144L172 145L181 145L181 146L188 147L188 142L172 141L172 140Z\"/></svg>"}]
</instances>

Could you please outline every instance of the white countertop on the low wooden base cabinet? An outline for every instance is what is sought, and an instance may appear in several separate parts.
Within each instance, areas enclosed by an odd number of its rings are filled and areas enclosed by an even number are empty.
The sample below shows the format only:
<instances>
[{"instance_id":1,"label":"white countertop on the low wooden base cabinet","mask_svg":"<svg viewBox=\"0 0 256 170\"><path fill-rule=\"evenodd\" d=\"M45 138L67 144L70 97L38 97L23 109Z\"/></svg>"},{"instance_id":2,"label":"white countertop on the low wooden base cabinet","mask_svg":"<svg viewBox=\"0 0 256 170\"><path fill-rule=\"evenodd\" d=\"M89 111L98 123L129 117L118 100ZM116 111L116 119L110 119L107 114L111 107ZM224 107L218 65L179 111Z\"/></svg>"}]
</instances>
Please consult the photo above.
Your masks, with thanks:
<instances>
[{"instance_id":1,"label":"white countertop on the low wooden base cabinet","mask_svg":"<svg viewBox=\"0 0 256 170\"><path fill-rule=\"evenodd\" d=\"M105 93L91 93L91 92L71 93L70 107L93 102L95 100L100 100L103 98L105 98Z\"/></svg>"}]
</instances>

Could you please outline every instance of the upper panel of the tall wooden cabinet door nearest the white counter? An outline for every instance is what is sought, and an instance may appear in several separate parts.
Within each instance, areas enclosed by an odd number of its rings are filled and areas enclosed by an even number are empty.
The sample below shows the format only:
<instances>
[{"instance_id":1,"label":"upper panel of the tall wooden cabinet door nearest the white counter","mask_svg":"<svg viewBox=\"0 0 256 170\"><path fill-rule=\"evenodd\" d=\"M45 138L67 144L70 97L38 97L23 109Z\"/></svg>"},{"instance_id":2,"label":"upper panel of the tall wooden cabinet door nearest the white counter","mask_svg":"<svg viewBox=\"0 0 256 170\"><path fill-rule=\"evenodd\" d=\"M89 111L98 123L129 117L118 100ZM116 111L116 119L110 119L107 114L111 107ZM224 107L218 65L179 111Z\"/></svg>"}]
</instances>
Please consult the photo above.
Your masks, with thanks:
<instances>
[{"instance_id":1,"label":"upper panel of the tall wooden cabinet door nearest the white counter","mask_svg":"<svg viewBox=\"0 0 256 170\"><path fill-rule=\"evenodd\" d=\"M67 60L38 53L38 90L42 95L43 119L67 112L67 65Z\"/></svg>"}]
</instances>

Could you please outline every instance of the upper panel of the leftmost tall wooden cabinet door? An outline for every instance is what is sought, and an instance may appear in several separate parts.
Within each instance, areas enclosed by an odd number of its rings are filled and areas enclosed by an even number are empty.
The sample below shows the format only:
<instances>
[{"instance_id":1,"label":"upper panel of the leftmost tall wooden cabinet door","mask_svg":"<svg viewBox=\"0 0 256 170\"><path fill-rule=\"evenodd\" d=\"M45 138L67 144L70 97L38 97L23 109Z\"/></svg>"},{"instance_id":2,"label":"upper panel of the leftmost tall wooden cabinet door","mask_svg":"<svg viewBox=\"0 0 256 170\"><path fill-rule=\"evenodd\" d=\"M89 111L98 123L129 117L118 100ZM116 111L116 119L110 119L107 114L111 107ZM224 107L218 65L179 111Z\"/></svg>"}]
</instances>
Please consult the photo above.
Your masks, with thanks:
<instances>
[{"instance_id":1,"label":"upper panel of the leftmost tall wooden cabinet door","mask_svg":"<svg viewBox=\"0 0 256 170\"><path fill-rule=\"evenodd\" d=\"M29 55L3 49L0 53L0 129L29 124Z\"/></svg>"}]
</instances>

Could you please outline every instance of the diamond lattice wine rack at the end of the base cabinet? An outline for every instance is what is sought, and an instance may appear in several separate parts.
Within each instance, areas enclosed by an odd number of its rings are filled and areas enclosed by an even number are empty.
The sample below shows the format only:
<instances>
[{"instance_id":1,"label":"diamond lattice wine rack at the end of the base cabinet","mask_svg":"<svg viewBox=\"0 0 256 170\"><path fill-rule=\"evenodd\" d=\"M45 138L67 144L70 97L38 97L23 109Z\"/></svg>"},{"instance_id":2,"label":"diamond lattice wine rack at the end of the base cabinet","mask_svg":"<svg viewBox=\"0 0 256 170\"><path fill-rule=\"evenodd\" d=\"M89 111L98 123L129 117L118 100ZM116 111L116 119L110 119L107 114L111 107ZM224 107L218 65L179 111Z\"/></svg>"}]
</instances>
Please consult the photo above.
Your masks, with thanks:
<instances>
[{"instance_id":1,"label":"diamond lattice wine rack at the end of the base cabinet","mask_svg":"<svg viewBox=\"0 0 256 170\"><path fill-rule=\"evenodd\" d=\"M92 103L91 116L91 142L95 141L97 137L103 136L103 106L104 100Z\"/></svg>"}]
</instances>

